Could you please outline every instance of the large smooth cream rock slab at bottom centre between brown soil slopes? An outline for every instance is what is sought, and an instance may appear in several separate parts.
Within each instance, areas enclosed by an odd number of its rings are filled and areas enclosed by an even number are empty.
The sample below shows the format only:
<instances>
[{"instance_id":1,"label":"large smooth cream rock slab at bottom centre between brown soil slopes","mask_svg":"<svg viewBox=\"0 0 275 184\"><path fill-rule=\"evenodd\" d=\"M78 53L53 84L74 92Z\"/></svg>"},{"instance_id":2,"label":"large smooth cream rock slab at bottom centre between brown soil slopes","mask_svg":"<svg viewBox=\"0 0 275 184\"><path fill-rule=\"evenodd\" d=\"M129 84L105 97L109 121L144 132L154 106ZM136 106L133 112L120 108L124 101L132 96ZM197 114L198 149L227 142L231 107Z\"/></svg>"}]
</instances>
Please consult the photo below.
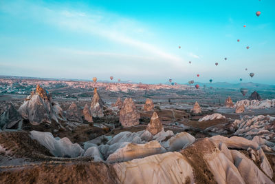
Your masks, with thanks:
<instances>
[{"instance_id":1,"label":"large smooth cream rock slab at bottom centre between brown soil slopes","mask_svg":"<svg viewBox=\"0 0 275 184\"><path fill-rule=\"evenodd\" d=\"M113 165L120 183L194 183L191 165L178 152Z\"/></svg>"}]
</instances>

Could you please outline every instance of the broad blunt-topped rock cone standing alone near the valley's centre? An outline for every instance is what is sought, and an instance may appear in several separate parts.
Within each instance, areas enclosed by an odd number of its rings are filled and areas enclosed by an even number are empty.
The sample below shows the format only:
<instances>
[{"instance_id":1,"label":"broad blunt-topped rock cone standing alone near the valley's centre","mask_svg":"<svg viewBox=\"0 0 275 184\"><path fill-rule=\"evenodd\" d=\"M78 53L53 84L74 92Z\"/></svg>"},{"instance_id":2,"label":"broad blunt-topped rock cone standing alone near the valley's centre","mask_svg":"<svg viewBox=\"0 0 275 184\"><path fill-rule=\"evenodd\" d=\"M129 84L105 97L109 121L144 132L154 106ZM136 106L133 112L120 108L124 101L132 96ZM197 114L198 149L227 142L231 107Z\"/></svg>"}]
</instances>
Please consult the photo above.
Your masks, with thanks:
<instances>
[{"instance_id":1,"label":"broad blunt-topped rock cone standing alone near the valley's centre","mask_svg":"<svg viewBox=\"0 0 275 184\"><path fill-rule=\"evenodd\" d=\"M135 103L126 98L120 110L120 123L123 127L131 127L140 124L140 113L137 112Z\"/></svg>"}]
</instances>

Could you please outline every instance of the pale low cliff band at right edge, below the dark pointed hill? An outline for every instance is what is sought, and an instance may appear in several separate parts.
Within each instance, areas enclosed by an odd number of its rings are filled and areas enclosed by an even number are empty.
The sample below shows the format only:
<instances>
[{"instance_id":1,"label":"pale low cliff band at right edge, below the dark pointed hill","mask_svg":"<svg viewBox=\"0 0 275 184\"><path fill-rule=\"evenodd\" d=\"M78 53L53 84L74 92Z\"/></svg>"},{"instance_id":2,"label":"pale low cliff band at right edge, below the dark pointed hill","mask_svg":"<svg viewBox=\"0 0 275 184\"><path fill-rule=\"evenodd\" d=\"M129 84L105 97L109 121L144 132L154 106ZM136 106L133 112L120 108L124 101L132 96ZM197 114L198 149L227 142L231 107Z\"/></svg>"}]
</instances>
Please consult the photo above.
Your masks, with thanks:
<instances>
[{"instance_id":1,"label":"pale low cliff band at right edge, below the dark pointed hill","mask_svg":"<svg viewBox=\"0 0 275 184\"><path fill-rule=\"evenodd\" d=\"M275 107L275 99L272 100L241 100L236 102L236 106L245 105L247 109L266 109L266 108L274 108Z\"/></svg>"}]
</instances>

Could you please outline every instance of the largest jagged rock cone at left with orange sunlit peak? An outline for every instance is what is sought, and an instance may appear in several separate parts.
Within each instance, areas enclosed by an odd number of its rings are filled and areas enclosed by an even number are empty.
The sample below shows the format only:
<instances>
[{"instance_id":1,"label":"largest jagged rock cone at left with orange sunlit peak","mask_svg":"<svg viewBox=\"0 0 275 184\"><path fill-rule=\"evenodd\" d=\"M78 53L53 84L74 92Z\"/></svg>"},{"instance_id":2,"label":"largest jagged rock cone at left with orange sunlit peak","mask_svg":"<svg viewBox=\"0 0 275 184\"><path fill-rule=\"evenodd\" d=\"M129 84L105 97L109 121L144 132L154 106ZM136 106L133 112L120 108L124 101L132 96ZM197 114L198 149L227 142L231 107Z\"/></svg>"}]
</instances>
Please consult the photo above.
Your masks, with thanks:
<instances>
[{"instance_id":1,"label":"largest jagged rock cone at left with orange sunlit peak","mask_svg":"<svg viewBox=\"0 0 275 184\"><path fill-rule=\"evenodd\" d=\"M36 86L36 92L32 92L19 108L19 113L24 119L28 119L32 125L40 123L52 123L52 121L66 121L62 108L52 101L40 85Z\"/></svg>"}]
</instances>

